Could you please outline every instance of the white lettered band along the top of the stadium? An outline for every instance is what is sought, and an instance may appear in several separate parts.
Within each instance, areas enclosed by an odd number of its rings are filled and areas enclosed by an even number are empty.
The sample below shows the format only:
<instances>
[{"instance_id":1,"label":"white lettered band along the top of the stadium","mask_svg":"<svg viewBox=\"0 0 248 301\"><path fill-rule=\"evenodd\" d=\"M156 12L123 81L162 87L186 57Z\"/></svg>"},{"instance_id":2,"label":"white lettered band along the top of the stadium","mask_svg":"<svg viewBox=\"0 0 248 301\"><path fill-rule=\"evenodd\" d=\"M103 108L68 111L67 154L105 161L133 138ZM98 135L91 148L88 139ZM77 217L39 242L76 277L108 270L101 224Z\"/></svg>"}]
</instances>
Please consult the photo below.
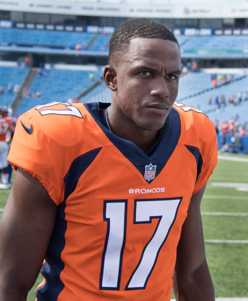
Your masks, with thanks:
<instances>
[{"instance_id":1,"label":"white lettered band along the top of the stadium","mask_svg":"<svg viewBox=\"0 0 248 301\"><path fill-rule=\"evenodd\" d=\"M16 0L2 2L1 10L47 14L148 18L246 18L245 0Z\"/></svg>"}]
</instances>

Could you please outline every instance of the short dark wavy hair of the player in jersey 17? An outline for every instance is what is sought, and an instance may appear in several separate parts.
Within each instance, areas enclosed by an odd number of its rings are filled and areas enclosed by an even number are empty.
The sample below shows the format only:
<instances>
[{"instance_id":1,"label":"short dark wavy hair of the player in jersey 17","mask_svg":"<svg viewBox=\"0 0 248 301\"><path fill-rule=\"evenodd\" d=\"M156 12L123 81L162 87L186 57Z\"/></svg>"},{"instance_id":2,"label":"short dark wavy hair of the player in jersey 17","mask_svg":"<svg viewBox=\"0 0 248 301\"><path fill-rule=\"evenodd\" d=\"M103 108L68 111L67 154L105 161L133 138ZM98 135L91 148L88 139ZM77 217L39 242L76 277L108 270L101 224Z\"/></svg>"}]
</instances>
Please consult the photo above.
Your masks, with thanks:
<instances>
[{"instance_id":1,"label":"short dark wavy hair of the player in jersey 17","mask_svg":"<svg viewBox=\"0 0 248 301\"><path fill-rule=\"evenodd\" d=\"M127 51L130 40L135 38L169 40L177 43L179 48L177 39L170 29L152 19L137 18L120 24L114 30L109 41L108 62L110 63L111 57L116 52Z\"/></svg>"}]
</instances>

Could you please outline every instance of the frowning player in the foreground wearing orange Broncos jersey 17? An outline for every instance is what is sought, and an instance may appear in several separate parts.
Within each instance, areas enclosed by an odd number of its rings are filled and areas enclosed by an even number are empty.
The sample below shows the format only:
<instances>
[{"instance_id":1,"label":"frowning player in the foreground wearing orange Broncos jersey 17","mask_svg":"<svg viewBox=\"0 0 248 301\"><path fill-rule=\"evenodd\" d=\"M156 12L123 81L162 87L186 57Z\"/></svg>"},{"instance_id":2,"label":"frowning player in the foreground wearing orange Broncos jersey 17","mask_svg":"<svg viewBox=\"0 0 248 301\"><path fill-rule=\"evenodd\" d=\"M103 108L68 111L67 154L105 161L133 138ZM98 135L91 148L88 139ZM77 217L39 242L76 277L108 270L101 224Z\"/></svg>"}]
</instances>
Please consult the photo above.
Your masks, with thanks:
<instances>
[{"instance_id":1,"label":"frowning player in the foreground wearing orange Broncos jersey 17","mask_svg":"<svg viewBox=\"0 0 248 301\"><path fill-rule=\"evenodd\" d=\"M1 300L26 300L40 269L38 301L169 301L172 285L177 300L214 300L200 203L216 133L175 102L180 64L168 28L129 20L110 39L111 104L52 102L20 116Z\"/></svg>"}]
</instances>

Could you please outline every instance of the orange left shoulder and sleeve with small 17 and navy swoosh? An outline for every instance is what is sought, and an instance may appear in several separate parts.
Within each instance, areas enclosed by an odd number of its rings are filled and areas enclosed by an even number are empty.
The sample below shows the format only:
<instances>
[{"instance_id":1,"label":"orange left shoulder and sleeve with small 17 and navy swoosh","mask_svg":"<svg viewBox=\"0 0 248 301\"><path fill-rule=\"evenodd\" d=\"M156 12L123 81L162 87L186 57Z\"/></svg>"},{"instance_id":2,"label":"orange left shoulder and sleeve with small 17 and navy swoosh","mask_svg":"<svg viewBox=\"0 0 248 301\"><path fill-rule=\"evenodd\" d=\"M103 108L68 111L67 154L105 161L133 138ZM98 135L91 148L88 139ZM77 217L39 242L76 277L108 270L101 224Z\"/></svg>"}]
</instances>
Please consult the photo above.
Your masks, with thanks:
<instances>
[{"instance_id":1,"label":"orange left shoulder and sleeve with small 17 and navy swoosh","mask_svg":"<svg viewBox=\"0 0 248 301\"><path fill-rule=\"evenodd\" d=\"M74 160L107 143L83 104L51 103L18 118L8 160L38 178L59 204L63 179Z\"/></svg>"}]
</instances>

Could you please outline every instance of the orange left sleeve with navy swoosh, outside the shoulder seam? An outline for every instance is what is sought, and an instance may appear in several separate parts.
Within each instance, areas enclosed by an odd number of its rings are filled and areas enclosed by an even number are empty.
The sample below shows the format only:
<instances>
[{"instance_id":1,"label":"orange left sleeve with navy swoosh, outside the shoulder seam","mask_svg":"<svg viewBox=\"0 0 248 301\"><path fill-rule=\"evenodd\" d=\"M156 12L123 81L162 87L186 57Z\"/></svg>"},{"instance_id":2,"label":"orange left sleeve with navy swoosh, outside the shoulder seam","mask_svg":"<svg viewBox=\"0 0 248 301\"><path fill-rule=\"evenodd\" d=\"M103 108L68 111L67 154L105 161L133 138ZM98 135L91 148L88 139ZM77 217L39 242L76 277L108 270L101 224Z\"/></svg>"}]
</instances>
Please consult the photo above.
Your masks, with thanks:
<instances>
[{"instance_id":1,"label":"orange left sleeve with navy swoosh, outside the shoulder seam","mask_svg":"<svg viewBox=\"0 0 248 301\"><path fill-rule=\"evenodd\" d=\"M30 111L17 119L7 159L15 170L20 168L37 178L54 203L59 205L63 197L63 179L53 160L47 137Z\"/></svg>"}]
</instances>

